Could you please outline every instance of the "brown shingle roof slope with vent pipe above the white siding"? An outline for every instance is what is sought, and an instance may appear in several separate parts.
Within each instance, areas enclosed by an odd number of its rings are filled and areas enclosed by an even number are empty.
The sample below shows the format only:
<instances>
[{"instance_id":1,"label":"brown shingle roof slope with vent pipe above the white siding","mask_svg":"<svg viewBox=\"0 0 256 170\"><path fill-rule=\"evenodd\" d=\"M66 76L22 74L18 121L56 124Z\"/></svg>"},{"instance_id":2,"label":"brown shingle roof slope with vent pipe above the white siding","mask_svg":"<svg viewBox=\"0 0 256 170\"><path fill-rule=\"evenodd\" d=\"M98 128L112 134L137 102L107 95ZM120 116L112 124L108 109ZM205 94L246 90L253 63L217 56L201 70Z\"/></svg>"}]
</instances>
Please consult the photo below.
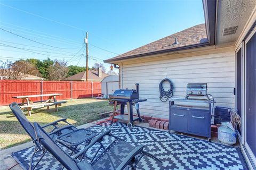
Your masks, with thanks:
<instances>
[{"instance_id":1,"label":"brown shingle roof slope with vent pipe above the white siding","mask_svg":"<svg viewBox=\"0 0 256 170\"><path fill-rule=\"evenodd\" d=\"M175 42L175 38L178 38L179 44L173 44ZM105 62L115 61L119 59L124 59L127 57L147 54L152 52L160 52L162 50L174 49L178 47L185 47L189 45L208 43L205 24L195 25L194 27L190 27L186 30L174 33L173 35L167 36L165 38L154 41L153 43L149 43L147 45L141 46L139 48L133 49L130 52L126 52L124 54L118 55L113 58L109 58Z\"/></svg>"}]
</instances>

